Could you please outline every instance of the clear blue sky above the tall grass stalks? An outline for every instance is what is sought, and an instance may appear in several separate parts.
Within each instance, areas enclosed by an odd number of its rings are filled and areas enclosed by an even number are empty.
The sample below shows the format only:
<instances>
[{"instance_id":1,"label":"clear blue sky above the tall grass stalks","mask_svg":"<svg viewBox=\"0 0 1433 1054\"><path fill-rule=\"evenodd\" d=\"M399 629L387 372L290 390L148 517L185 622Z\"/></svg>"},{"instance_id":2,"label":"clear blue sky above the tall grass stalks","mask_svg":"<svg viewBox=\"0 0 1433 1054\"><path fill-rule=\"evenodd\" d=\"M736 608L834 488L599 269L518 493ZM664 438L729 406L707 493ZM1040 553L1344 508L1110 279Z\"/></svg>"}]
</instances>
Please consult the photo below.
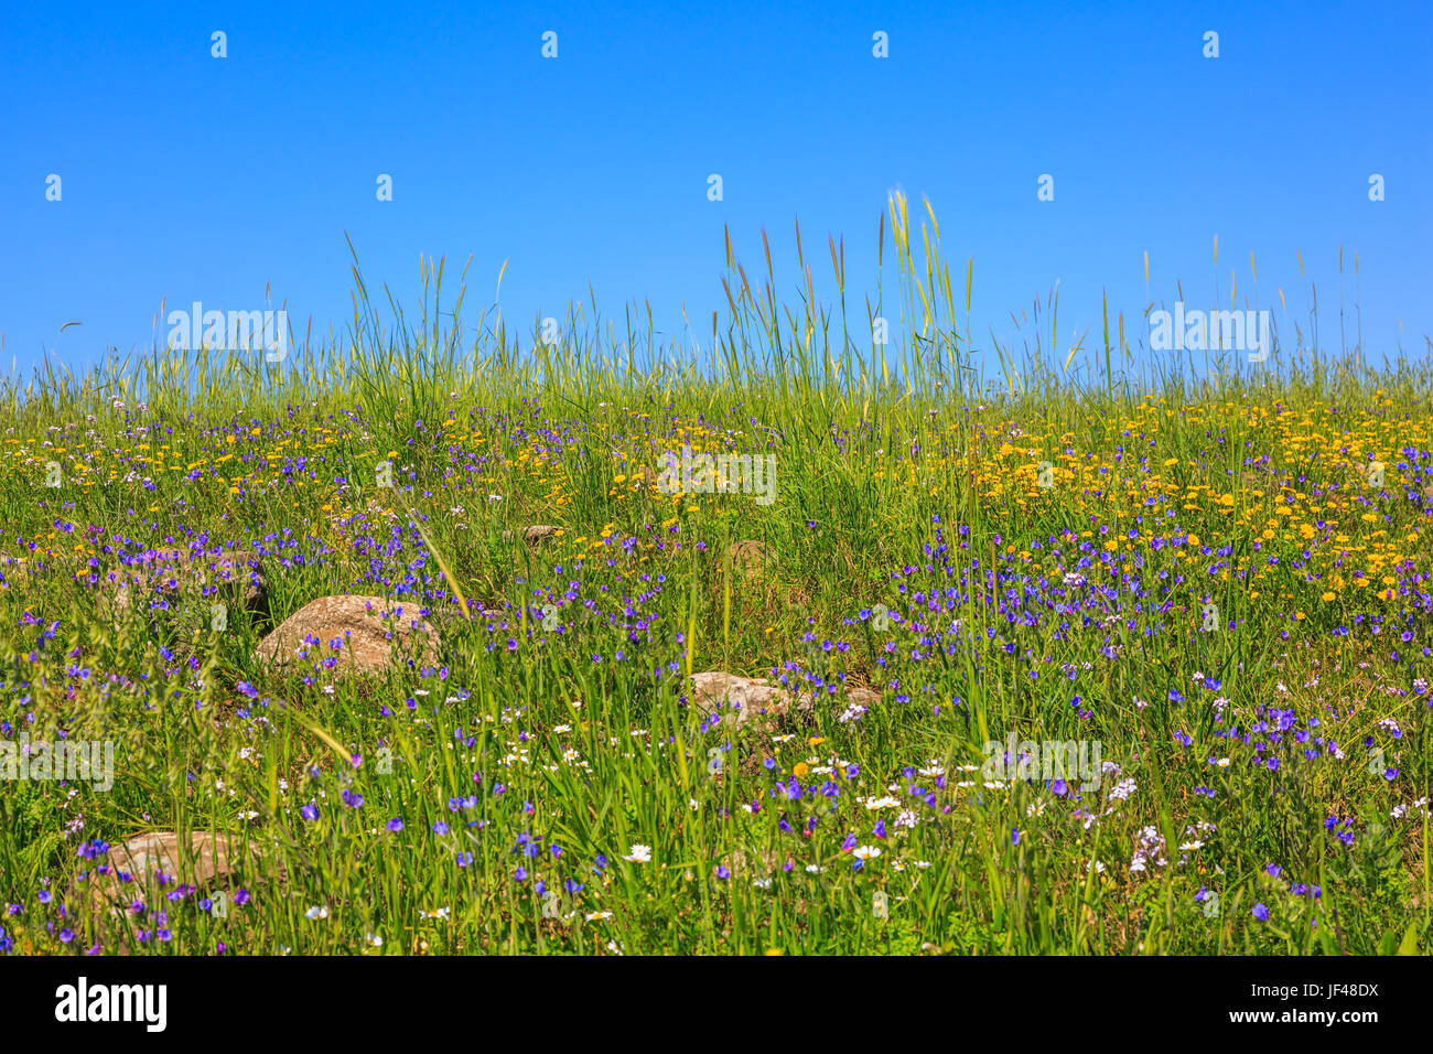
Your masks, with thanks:
<instances>
[{"instance_id":1,"label":"clear blue sky above the tall grass stalks","mask_svg":"<svg viewBox=\"0 0 1433 1054\"><path fill-rule=\"evenodd\" d=\"M503 314L524 333L590 281L608 317L649 298L671 333L685 304L705 334L725 303L722 225L748 272L767 228L795 301L800 218L818 293L834 294L825 235L845 235L864 315L896 186L930 198L960 272L974 257L983 347L1056 280L1060 340L1089 326L1095 343L1102 288L1142 311L1146 250L1152 300L1172 305L1179 278L1208 305L1218 280L1227 307L1231 270L1252 290L1252 251L1260 304L1281 285L1300 320L1301 250L1337 346L1343 245L1350 340L1357 250L1370 354L1400 340L1424 354L1427 0L772 7L7 4L3 369L146 348L168 333L162 297L255 310L265 284L295 330L311 315L341 331L345 231L370 287L410 304L420 254L454 268L471 255L469 307L507 260ZM888 59L871 54L877 30ZM1207 30L1218 59L1201 53ZM1374 172L1383 202L1369 201ZM1036 199L1040 174L1053 202ZM60 334L70 321L83 326Z\"/></svg>"}]
</instances>

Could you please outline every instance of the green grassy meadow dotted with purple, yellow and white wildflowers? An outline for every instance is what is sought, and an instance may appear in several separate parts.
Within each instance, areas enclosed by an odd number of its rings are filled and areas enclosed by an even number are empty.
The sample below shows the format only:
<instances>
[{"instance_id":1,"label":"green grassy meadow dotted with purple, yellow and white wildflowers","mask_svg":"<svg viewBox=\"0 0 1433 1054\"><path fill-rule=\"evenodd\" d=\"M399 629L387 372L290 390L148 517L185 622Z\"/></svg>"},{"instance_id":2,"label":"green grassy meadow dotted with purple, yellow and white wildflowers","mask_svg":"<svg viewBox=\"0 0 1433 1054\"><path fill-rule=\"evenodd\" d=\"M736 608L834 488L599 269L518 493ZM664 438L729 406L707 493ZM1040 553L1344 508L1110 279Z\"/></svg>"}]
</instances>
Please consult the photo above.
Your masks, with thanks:
<instances>
[{"instance_id":1,"label":"green grassy meadow dotted with purple, yellow and white wildflowers","mask_svg":"<svg viewBox=\"0 0 1433 1054\"><path fill-rule=\"evenodd\" d=\"M113 744L107 789L0 782L0 949L1427 952L1422 348L1283 303L1264 363L1118 315L1070 350L1053 295L992 346L898 198L884 287L728 244L698 359L631 305L533 346L444 270L355 270L348 331L281 363L0 387L0 737ZM669 493L685 447L771 456L774 500ZM115 604L166 548L258 554L267 612ZM338 594L438 654L255 657ZM709 713L702 671L792 706ZM122 882L158 830L251 855Z\"/></svg>"}]
</instances>

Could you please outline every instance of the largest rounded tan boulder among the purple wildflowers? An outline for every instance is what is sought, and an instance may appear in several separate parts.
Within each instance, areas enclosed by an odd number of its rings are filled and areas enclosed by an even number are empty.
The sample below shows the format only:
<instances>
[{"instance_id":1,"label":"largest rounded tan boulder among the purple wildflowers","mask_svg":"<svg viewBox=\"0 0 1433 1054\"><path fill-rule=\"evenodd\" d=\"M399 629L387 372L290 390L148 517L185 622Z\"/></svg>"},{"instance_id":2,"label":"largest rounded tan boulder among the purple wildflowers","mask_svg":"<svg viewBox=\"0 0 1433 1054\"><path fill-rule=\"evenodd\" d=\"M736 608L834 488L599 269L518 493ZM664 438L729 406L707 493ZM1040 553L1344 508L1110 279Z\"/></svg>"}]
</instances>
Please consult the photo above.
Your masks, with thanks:
<instances>
[{"instance_id":1,"label":"largest rounded tan boulder among the purple wildflowers","mask_svg":"<svg viewBox=\"0 0 1433 1054\"><path fill-rule=\"evenodd\" d=\"M320 597L259 641L254 657L275 665L334 658L335 673L373 673L388 668L397 642L406 658L436 665L438 635L420 609L417 602L390 604L383 597Z\"/></svg>"}]
</instances>

